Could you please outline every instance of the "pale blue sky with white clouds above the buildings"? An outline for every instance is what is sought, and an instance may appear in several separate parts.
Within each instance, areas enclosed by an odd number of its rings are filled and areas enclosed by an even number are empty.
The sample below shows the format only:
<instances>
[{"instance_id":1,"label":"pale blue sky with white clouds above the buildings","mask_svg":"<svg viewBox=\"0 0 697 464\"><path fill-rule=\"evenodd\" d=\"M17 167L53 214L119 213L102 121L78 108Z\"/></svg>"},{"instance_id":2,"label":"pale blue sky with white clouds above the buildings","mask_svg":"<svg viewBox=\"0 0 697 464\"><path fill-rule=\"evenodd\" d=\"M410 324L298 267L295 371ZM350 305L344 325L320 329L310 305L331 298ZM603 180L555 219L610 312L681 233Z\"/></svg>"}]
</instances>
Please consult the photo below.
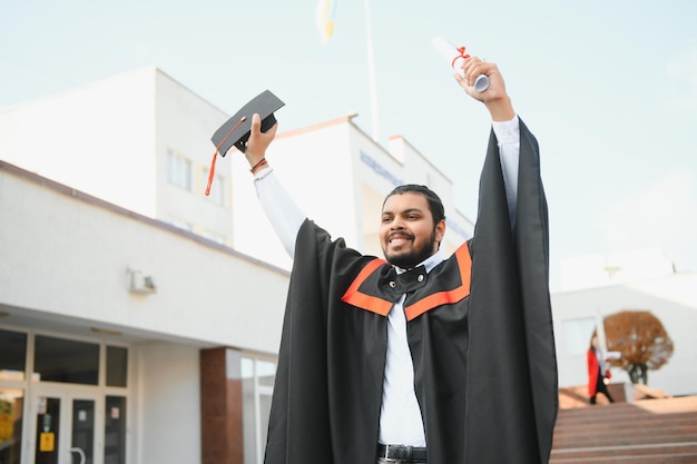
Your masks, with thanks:
<instances>
[{"instance_id":1,"label":"pale blue sky with white clouds above the buildings","mask_svg":"<svg viewBox=\"0 0 697 464\"><path fill-rule=\"evenodd\" d=\"M474 219L490 120L440 37L499 66L540 144L552 289L585 255L697 272L696 1L335 0L324 45L316 2L0 0L0 108L151 66L229 115L269 89L279 131L357 113L385 147L403 136Z\"/></svg>"}]
</instances>

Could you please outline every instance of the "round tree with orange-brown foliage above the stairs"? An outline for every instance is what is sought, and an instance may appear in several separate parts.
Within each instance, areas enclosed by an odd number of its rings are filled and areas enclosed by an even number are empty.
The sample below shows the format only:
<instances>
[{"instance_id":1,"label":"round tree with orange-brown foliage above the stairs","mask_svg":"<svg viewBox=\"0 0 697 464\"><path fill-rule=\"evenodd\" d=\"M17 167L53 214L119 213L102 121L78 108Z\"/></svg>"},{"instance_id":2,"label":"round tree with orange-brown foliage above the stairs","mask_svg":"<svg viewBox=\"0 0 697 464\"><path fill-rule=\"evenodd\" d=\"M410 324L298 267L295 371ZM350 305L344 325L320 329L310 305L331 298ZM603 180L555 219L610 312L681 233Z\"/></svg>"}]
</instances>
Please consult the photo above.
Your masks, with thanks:
<instances>
[{"instance_id":1,"label":"round tree with orange-brown foliage above the stairs","mask_svg":"<svg viewBox=\"0 0 697 464\"><path fill-rule=\"evenodd\" d=\"M658 371L673 355L673 339L648 310L622 310L605 318L607 349L619 352L610 366L627 371L632 383L648 384L648 372Z\"/></svg>"}]
</instances>

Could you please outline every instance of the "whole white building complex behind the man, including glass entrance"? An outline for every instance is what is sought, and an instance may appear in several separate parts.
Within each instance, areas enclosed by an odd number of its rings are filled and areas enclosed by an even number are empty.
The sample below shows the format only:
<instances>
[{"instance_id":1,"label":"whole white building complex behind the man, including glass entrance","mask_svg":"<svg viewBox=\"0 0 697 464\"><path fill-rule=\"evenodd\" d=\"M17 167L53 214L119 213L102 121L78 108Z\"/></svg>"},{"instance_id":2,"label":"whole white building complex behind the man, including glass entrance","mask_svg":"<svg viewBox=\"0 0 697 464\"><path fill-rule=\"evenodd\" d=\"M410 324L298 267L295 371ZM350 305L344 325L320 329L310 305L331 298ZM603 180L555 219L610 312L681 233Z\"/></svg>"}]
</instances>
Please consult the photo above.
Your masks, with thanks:
<instances>
[{"instance_id":1,"label":"whole white building complex behind the man, including glass entrance","mask_svg":"<svg viewBox=\"0 0 697 464\"><path fill-rule=\"evenodd\" d=\"M261 463L289 263L243 157L204 195L226 119L155 68L0 110L0 462ZM347 116L272 147L350 246L380 254L402 182L441 195L446 253L471 235L401 137L385 149Z\"/></svg>"}]
</instances>

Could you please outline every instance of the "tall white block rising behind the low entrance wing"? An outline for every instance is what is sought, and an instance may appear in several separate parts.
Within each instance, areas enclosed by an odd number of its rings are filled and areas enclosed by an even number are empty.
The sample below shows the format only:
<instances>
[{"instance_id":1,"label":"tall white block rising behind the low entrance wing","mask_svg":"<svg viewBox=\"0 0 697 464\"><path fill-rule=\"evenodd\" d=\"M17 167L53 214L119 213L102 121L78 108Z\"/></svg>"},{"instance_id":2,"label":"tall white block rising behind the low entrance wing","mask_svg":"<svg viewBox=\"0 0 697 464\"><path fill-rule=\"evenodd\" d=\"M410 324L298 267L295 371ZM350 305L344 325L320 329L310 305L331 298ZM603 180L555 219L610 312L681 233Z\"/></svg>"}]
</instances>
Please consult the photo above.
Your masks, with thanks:
<instances>
[{"instance_id":1,"label":"tall white block rising behind the low entrance wing","mask_svg":"<svg viewBox=\"0 0 697 464\"><path fill-rule=\"evenodd\" d=\"M232 245L229 166L208 177L226 115L155 68L0 110L0 159Z\"/></svg>"}]
</instances>

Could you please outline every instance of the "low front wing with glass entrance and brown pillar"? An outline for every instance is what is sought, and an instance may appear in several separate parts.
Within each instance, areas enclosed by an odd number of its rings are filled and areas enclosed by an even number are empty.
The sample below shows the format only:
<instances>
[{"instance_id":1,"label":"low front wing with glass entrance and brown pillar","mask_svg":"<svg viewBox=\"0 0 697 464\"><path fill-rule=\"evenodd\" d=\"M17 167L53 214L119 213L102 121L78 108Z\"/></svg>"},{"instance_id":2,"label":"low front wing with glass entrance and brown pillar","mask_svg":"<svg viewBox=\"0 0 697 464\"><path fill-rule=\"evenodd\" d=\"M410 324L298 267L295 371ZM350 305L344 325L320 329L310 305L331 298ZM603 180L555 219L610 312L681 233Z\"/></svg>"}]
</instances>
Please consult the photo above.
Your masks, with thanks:
<instances>
[{"instance_id":1,"label":"low front wing with glass entrance and brown pillar","mask_svg":"<svg viewBox=\"0 0 697 464\"><path fill-rule=\"evenodd\" d=\"M214 462L219 414L242 456L286 270L3 161L0 218L3 463Z\"/></svg>"}]
</instances>

